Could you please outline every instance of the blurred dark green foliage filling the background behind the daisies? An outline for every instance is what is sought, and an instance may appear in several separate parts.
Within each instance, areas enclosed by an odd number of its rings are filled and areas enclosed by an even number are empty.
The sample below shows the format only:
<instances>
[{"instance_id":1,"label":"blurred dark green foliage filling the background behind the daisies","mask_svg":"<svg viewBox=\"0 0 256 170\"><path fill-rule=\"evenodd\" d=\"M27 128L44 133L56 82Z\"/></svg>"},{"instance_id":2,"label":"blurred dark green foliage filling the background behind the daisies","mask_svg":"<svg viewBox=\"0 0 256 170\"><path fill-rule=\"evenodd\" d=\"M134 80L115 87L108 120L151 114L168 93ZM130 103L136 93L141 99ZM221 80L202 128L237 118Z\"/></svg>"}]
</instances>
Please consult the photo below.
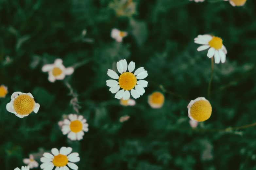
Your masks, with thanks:
<instances>
[{"instance_id":1,"label":"blurred dark green foliage filling the background behind the daisies","mask_svg":"<svg viewBox=\"0 0 256 170\"><path fill-rule=\"evenodd\" d=\"M41 148L39 162L41 152L62 146L80 154L80 170L256 169L255 127L225 130L256 121L256 1L243 7L221 0L126 3L0 1L0 83L9 91L0 99L1 169L21 167L23 158ZM123 43L111 39L114 27L128 31ZM207 97L211 60L207 51L196 51L198 34L220 36L228 50L226 63L214 64L212 116L197 127L221 131L191 129L188 102L168 93L161 109L147 104L159 85L189 100ZM77 68L50 83L41 68L56 58ZM106 86L107 70L116 70L120 59L148 71L146 92L133 107L120 106ZM80 114L89 123L81 141L68 140L58 126L63 114L74 113L65 82L78 94ZM6 110L17 91L34 95L41 105L37 114L20 119ZM127 114L131 118L120 123Z\"/></svg>"}]
</instances>

